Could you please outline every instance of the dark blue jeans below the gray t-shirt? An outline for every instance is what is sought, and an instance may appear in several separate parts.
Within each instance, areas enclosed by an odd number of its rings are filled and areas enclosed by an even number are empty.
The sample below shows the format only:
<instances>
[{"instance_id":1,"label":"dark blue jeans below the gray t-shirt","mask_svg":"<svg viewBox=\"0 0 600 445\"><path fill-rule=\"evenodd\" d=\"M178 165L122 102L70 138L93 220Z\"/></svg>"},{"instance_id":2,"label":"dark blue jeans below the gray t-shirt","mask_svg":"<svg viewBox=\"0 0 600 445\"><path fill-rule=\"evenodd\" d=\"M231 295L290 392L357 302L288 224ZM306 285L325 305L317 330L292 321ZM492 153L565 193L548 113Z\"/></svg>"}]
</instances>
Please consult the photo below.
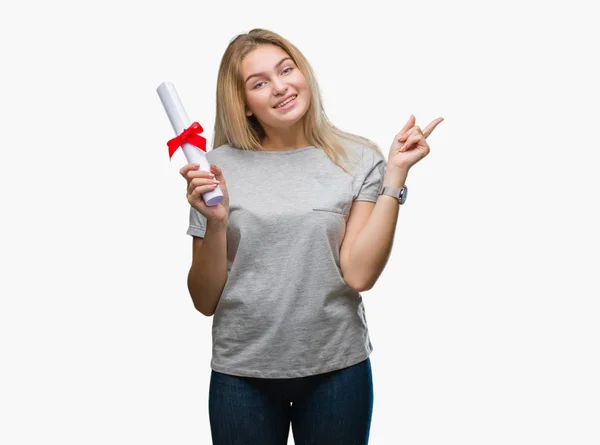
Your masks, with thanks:
<instances>
[{"instance_id":1,"label":"dark blue jeans below the gray t-shirt","mask_svg":"<svg viewBox=\"0 0 600 445\"><path fill-rule=\"evenodd\" d=\"M371 361L293 379L212 371L213 445L366 445L373 412Z\"/></svg>"}]
</instances>

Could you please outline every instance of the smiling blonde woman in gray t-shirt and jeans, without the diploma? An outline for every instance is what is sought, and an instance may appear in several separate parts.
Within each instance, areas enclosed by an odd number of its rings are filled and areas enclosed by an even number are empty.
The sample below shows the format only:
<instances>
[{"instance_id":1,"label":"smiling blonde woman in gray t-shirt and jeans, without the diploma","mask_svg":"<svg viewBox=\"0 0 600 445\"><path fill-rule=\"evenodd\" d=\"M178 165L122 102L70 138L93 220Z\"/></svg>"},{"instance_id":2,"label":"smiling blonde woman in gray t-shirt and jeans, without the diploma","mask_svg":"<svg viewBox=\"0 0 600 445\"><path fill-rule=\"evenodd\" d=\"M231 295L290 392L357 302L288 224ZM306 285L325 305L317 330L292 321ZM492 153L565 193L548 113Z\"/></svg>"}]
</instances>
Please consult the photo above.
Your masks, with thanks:
<instances>
[{"instance_id":1,"label":"smiling blonde woman in gray t-shirt and jeans, without the diploma","mask_svg":"<svg viewBox=\"0 0 600 445\"><path fill-rule=\"evenodd\" d=\"M387 262L399 192L439 122L421 131L411 116L386 162L327 120L294 45L264 29L230 42L211 172L181 169L188 288L214 315L213 444L286 445L290 424L296 445L368 443L373 346L360 292ZM202 194L216 184L224 199L208 207Z\"/></svg>"}]
</instances>

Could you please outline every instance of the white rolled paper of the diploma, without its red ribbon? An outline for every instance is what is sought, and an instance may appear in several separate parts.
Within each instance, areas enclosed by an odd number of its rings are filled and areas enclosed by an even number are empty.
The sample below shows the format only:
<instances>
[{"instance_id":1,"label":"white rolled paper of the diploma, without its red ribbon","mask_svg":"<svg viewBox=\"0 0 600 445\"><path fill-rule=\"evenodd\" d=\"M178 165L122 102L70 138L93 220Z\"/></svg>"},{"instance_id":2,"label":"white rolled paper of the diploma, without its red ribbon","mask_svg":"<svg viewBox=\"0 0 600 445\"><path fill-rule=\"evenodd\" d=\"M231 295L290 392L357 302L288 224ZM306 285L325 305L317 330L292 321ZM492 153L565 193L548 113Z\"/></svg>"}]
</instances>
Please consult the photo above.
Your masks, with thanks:
<instances>
[{"instance_id":1,"label":"white rolled paper of the diploma, without its red ribbon","mask_svg":"<svg viewBox=\"0 0 600 445\"><path fill-rule=\"evenodd\" d=\"M180 135L192 123L185 112L185 108L183 108L175 86L171 82L163 82L158 86L156 92L167 112L167 116L169 116L175 135ZM181 149L188 163L200 164L200 170L210 172L210 162L208 162L206 153L202 149L187 142L181 145ZM223 192L217 185L213 190L203 193L202 198L207 206L214 206L223 200Z\"/></svg>"}]
</instances>

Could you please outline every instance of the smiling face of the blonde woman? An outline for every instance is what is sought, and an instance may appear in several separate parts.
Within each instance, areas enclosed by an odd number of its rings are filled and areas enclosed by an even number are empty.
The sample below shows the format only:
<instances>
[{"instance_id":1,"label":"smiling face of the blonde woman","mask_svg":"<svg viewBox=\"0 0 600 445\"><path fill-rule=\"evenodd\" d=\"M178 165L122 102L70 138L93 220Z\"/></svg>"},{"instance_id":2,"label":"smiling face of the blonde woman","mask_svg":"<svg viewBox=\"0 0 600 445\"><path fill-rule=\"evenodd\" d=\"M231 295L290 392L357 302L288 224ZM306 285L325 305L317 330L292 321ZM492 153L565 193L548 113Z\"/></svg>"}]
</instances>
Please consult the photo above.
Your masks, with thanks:
<instances>
[{"instance_id":1,"label":"smiling face of the blonde woman","mask_svg":"<svg viewBox=\"0 0 600 445\"><path fill-rule=\"evenodd\" d=\"M257 74L254 76L254 74ZM242 61L246 115L265 127L286 128L300 121L310 105L310 87L291 57L275 45L261 45ZM296 96L281 108L282 100Z\"/></svg>"}]
</instances>

